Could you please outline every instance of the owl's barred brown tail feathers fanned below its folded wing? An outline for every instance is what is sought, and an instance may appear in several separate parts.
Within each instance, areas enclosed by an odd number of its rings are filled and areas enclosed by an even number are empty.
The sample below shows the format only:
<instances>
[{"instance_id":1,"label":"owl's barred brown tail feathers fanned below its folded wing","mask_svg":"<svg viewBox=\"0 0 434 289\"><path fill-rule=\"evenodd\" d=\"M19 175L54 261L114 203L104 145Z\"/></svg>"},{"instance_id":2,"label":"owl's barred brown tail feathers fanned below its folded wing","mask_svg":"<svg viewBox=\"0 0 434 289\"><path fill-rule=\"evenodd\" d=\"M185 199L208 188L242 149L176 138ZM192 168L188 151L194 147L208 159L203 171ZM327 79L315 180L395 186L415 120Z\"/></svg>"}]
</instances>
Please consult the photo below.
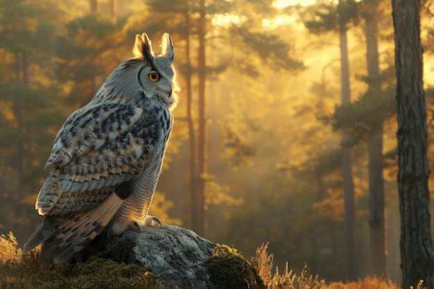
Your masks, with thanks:
<instances>
[{"instance_id":1,"label":"owl's barred brown tail feathers fanned below its folded wing","mask_svg":"<svg viewBox=\"0 0 434 289\"><path fill-rule=\"evenodd\" d=\"M24 245L24 252L42 243L41 266L51 261L56 264L69 261L103 231L123 201L116 193L112 193L94 209L65 216L45 216L42 225Z\"/></svg>"}]
</instances>

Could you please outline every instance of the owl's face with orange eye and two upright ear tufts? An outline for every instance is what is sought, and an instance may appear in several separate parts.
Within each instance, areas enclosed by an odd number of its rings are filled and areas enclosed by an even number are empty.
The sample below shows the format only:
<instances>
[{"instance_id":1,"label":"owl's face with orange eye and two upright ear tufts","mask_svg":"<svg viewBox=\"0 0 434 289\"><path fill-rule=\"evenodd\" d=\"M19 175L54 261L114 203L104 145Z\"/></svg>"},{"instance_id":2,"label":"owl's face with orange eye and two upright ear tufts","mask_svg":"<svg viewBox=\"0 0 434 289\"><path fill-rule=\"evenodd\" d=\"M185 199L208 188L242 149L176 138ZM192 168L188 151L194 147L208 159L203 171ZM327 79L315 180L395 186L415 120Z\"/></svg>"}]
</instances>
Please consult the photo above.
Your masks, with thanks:
<instances>
[{"instance_id":1,"label":"owl's face with orange eye and two upright ear tufts","mask_svg":"<svg viewBox=\"0 0 434 289\"><path fill-rule=\"evenodd\" d=\"M146 96L158 98L173 109L177 103L179 87L173 68L175 51L171 37L167 33L162 36L161 48L162 52L154 55L148 35L136 35L132 53L135 59L143 62L143 66L137 72L137 79Z\"/></svg>"}]
</instances>

